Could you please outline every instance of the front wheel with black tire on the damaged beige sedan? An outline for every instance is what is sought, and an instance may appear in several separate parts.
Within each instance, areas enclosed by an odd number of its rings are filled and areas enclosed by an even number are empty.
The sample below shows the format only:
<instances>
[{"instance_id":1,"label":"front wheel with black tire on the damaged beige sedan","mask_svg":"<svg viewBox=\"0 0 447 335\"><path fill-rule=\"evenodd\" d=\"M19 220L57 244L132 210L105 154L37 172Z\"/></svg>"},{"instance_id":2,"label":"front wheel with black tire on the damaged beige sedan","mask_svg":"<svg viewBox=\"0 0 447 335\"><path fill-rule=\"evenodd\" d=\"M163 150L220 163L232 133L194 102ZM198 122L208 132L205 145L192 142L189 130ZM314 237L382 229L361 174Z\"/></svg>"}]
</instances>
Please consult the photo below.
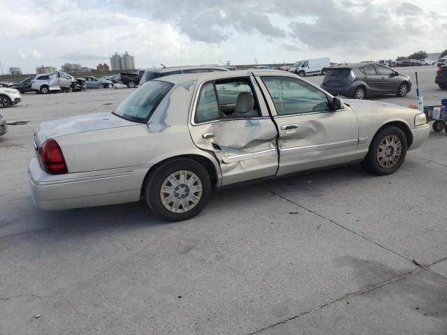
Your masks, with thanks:
<instances>
[{"instance_id":1,"label":"front wheel with black tire on the damaged beige sedan","mask_svg":"<svg viewBox=\"0 0 447 335\"><path fill-rule=\"evenodd\" d=\"M404 163L407 146L406 136L400 128L384 128L374 136L362 167L372 174L392 174Z\"/></svg>"}]
</instances>

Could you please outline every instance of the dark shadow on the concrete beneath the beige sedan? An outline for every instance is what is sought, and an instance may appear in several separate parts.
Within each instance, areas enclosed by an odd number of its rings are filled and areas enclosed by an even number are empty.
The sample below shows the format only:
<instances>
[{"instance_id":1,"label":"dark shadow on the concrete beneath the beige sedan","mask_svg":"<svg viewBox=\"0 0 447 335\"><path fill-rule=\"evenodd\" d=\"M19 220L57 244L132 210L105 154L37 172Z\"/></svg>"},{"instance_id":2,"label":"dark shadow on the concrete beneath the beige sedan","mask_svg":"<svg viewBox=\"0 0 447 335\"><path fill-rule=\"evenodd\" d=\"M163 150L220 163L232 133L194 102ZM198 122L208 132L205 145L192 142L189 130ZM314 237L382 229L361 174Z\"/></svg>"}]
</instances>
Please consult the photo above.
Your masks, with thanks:
<instances>
[{"instance_id":1,"label":"dark shadow on the concrete beneath the beige sedan","mask_svg":"<svg viewBox=\"0 0 447 335\"><path fill-rule=\"evenodd\" d=\"M355 179L370 178L369 174L363 172L358 165L342 168L332 168L318 172L298 174L293 177L272 179L243 187L228 188L214 193L210 202L205 207L203 214L214 217L216 212L225 210L226 207L234 207L235 204L244 207L244 203L256 204L261 189L266 192L270 188L290 189L297 186L296 192L303 197L324 198L324 185L332 187L335 182L345 180L351 183ZM318 187L316 186L318 182ZM193 221L194 218L189 221ZM188 222L188 221L186 221ZM95 234L97 232L111 232L139 230L154 228L159 225L178 225L183 223L168 223L157 218L145 200L131 202L128 204L114 204L101 207L88 207L81 209L68 209L63 211L43 211L38 209L31 199L20 200L11 203L2 216L0 225L0 242L7 240L12 242L17 239L34 237L45 237L45 235L57 234L57 237L72 239L84 234Z\"/></svg>"}]
</instances>

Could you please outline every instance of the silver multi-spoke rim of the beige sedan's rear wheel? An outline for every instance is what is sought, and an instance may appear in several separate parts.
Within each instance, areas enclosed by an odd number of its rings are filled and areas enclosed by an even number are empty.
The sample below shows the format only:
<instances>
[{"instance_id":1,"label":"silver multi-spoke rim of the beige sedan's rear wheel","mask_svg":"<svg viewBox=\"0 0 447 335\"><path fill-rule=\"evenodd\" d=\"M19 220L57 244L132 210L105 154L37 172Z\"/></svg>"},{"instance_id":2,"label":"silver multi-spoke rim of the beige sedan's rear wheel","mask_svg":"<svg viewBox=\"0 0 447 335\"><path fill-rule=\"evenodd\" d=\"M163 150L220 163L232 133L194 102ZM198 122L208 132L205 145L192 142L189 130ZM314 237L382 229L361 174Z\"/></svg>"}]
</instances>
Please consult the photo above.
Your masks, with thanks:
<instances>
[{"instance_id":1,"label":"silver multi-spoke rim of the beige sedan's rear wheel","mask_svg":"<svg viewBox=\"0 0 447 335\"><path fill-rule=\"evenodd\" d=\"M200 198L202 198L202 182L191 171L174 172L161 185L161 203L173 213L190 211L196 207Z\"/></svg>"}]
</instances>

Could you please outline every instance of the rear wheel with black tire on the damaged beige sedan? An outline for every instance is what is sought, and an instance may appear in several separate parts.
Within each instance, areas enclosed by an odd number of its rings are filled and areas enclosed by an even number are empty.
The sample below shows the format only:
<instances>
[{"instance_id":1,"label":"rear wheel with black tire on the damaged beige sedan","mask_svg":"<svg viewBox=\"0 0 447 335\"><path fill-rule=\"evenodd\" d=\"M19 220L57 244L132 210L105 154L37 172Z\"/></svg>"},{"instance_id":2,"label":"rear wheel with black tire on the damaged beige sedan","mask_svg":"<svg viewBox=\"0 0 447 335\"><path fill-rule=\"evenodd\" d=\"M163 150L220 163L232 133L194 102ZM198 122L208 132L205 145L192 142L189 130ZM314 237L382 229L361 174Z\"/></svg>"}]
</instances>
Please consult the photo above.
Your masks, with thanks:
<instances>
[{"instance_id":1,"label":"rear wheel with black tire on the damaged beige sedan","mask_svg":"<svg viewBox=\"0 0 447 335\"><path fill-rule=\"evenodd\" d=\"M145 199L166 221L184 221L202 211L212 191L207 170L189 158L167 161L149 174Z\"/></svg>"}]
</instances>

